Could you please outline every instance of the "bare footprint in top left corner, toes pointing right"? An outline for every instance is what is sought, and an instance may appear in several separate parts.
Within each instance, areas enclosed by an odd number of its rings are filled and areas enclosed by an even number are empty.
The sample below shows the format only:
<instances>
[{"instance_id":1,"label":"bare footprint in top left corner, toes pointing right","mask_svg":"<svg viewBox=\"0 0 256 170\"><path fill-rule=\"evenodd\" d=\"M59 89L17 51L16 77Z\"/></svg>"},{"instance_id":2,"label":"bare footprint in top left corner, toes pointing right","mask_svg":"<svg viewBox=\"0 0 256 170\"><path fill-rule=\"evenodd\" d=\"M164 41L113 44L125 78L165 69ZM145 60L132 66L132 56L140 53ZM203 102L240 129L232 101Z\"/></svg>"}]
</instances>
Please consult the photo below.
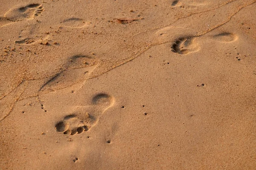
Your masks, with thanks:
<instances>
[{"instance_id":1,"label":"bare footprint in top left corner, toes pointing right","mask_svg":"<svg viewBox=\"0 0 256 170\"><path fill-rule=\"evenodd\" d=\"M10 21L21 21L32 19L44 11L42 4L32 3L27 6L20 8L11 8L4 14L7 20Z\"/></svg>"}]
</instances>

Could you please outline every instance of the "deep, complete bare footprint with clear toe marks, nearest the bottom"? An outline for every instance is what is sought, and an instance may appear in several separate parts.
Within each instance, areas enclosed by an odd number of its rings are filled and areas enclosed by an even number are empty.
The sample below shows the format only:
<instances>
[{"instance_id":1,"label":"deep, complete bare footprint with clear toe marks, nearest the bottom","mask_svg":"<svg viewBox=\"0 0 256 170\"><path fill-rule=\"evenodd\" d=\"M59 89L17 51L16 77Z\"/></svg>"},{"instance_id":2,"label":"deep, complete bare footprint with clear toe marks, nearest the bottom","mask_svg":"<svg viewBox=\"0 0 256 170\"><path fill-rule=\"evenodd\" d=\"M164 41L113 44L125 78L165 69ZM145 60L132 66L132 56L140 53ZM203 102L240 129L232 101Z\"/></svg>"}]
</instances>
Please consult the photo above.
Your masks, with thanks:
<instances>
[{"instance_id":1,"label":"deep, complete bare footprint with clear toe marks, nearest the bottom","mask_svg":"<svg viewBox=\"0 0 256 170\"><path fill-rule=\"evenodd\" d=\"M55 129L65 135L80 134L97 124L99 117L114 103L113 96L105 93L96 94L91 105L79 106L76 111L57 122Z\"/></svg>"}]
</instances>

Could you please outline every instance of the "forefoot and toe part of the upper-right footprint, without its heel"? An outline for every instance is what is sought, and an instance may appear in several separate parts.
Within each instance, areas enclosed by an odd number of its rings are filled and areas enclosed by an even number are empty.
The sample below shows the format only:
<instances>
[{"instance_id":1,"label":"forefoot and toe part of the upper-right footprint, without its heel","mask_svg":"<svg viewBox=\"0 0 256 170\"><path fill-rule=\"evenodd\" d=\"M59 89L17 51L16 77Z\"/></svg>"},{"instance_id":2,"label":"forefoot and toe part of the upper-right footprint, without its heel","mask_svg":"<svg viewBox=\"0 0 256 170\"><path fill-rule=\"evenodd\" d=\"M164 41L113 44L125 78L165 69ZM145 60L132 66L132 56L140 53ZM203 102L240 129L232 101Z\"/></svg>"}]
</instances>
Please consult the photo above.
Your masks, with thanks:
<instances>
[{"instance_id":1,"label":"forefoot and toe part of the upper-right footprint, without its heel","mask_svg":"<svg viewBox=\"0 0 256 170\"><path fill-rule=\"evenodd\" d=\"M200 48L194 37L179 38L172 44L172 51L178 54L189 54L198 51Z\"/></svg>"}]
</instances>

